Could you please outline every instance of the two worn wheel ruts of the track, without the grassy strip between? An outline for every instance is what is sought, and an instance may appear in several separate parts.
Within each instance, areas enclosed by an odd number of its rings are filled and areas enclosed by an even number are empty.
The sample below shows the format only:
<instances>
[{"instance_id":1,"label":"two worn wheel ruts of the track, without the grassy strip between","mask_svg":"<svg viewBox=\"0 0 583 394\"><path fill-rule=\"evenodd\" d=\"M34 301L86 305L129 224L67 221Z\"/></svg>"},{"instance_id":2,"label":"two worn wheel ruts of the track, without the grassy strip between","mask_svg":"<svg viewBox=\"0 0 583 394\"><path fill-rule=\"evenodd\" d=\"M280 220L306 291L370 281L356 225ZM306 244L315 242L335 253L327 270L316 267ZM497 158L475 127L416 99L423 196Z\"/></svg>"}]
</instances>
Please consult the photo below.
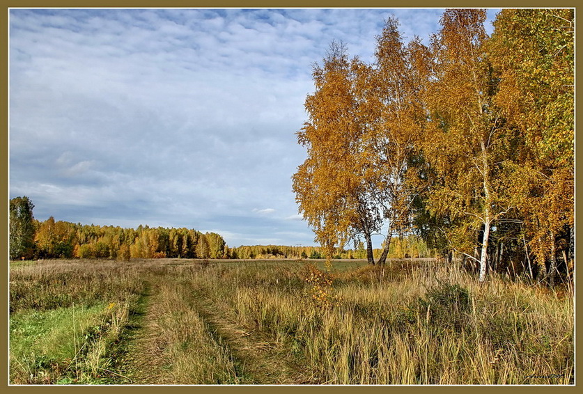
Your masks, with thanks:
<instances>
[{"instance_id":1,"label":"two worn wheel ruts of the track, without the grassy strip between","mask_svg":"<svg viewBox=\"0 0 583 394\"><path fill-rule=\"evenodd\" d=\"M310 379L302 368L293 365L283 344L275 342L267 333L249 332L229 316L224 304L205 297L192 284L148 281L147 291L134 316L130 332L125 338L123 359L118 361L121 375L131 379L123 383L139 385L177 384L173 381L173 361L165 354L169 346L158 322L164 317L160 310L160 292L164 286L185 286L188 308L196 311L205 322L210 337L229 354L235 368L233 381L237 384L305 384ZM231 312L232 313L232 312ZM196 347L196 343L191 344Z\"/></svg>"}]
</instances>

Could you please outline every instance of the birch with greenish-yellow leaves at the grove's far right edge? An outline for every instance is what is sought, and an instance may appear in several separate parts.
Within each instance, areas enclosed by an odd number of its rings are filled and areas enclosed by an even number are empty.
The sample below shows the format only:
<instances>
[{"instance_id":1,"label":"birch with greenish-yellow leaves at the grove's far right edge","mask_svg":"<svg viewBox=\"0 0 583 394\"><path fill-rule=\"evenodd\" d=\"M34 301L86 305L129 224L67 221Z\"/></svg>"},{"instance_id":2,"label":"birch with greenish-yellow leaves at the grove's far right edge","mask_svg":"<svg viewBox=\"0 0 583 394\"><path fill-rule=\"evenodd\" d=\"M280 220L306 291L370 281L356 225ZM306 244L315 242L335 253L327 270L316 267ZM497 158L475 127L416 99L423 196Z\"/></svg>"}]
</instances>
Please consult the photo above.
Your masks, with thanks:
<instances>
[{"instance_id":1,"label":"birch with greenish-yellow leaves at the grove's far right edge","mask_svg":"<svg viewBox=\"0 0 583 394\"><path fill-rule=\"evenodd\" d=\"M520 208L551 285L556 239L574 223L574 31L573 9L508 9L489 45L500 80L495 104L524 141Z\"/></svg>"}]
</instances>

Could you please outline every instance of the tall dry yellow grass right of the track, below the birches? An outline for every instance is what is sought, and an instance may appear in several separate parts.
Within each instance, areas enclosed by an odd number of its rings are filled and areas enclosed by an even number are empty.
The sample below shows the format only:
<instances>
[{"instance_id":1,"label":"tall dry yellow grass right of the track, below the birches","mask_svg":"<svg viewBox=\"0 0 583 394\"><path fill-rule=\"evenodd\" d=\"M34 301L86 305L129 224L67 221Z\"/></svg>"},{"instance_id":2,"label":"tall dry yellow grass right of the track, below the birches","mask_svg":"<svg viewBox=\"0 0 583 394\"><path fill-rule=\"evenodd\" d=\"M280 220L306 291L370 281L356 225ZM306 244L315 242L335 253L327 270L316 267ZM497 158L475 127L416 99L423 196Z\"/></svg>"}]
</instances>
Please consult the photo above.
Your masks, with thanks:
<instances>
[{"instance_id":1,"label":"tall dry yellow grass right of the track, below the birches","mask_svg":"<svg viewBox=\"0 0 583 394\"><path fill-rule=\"evenodd\" d=\"M192 281L245 329L283 344L316 384L573 382L572 297L407 268L336 273L327 304L298 267L216 266Z\"/></svg>"}]
</instances>

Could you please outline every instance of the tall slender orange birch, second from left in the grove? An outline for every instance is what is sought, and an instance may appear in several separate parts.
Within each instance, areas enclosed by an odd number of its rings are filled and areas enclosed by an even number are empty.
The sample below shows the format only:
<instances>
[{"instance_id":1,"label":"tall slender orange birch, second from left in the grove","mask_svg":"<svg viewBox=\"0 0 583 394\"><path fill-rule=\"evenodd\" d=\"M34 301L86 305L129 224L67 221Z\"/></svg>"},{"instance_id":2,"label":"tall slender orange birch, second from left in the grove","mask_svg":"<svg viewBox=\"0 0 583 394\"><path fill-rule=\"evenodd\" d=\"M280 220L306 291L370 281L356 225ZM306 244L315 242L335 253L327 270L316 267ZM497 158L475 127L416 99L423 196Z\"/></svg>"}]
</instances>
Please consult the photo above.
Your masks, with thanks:
<instances>
[{"instance_id":1,"label":"tall slender orange birch, second from left in the grove","mask_svg":"<svg viewBox=\"0 0 583 394\"><path fill-rule=\"evenodd\" d=\"M387 235L379 263L384 264L391 237L403 237L410 230L412 203L425 186L412 166L418 154L419 139L426 123L421 97L426 86L428 49L419 39L403 43L398 21L387 19L377 38L376 63L371 72L372 89L364 90L371 127L364 143L368 166L373 174L365 178L375 182L375 203L381 209Z\"/></svg>"}]
</instances>

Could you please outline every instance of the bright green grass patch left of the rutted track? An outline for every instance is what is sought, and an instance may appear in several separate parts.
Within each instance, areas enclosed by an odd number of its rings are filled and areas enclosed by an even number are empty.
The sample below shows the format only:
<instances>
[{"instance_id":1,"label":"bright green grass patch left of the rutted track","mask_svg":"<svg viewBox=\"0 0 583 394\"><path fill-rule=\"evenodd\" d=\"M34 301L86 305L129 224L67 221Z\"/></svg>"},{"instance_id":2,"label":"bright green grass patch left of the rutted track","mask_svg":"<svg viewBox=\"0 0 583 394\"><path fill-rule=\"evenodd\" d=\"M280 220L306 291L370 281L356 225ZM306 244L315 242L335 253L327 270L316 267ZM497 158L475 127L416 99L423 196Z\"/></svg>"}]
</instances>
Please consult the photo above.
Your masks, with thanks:
<instances>
[{"instance_id":1,"label":"bright green grass patch left of the rutted track","mask_svg":"<svg viewBox=\"0 0 583 394\"><path fill-rule=\"evenodd\" d=\"M127 304L22 310L10 317L10 382L108 382L109 347L127 321Z\"/></svg>"}]
</instances>

